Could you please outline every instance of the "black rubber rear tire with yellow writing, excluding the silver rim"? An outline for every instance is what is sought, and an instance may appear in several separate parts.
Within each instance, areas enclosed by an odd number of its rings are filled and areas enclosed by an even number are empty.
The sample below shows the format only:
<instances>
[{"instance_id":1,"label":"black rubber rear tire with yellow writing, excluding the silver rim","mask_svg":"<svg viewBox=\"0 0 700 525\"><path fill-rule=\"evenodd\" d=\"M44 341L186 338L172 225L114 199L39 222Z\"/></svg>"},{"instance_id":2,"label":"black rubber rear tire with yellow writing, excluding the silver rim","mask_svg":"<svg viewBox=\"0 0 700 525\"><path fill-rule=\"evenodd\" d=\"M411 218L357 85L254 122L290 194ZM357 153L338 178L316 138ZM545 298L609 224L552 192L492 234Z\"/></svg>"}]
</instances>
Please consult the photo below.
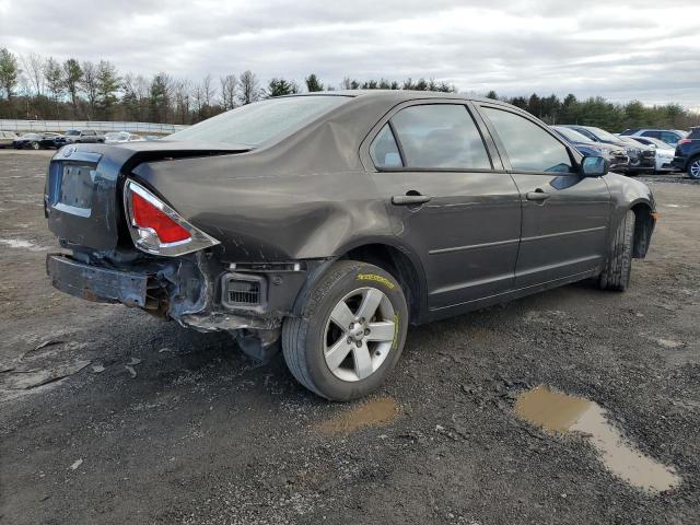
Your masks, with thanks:
<instances>
[{"instance_id":1,"label":"black rubber rear tire with yellow writing, excluding the silver rim","mask_svg":"<svg viewBox=\"0 0 700 525\"><path fill-rule=\"evenodd\" d=\"M395 312L390 349L369 376L343 381L326 364L326 326L331 312L343 298L355 290L371 288L381 291ZM311 392L336 401L355 399L378 388L398 362L406 342L408 307L397 280L374 265L342 260L332 265L301 301L301 316L288 317L282 325L284 361L296 381Z\"/></svg>"}]
</instances>

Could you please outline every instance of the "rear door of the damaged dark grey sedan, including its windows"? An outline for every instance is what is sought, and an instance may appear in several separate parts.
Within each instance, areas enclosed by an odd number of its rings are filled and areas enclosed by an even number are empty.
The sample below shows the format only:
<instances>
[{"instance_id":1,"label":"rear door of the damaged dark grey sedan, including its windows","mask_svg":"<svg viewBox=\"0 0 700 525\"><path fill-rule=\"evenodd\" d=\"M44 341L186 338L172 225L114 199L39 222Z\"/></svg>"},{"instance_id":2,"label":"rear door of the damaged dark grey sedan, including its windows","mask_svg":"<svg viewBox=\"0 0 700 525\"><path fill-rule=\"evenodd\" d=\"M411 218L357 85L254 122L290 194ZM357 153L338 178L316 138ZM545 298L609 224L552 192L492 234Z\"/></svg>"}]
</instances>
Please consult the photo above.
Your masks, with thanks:
<instances>
[{"instance_id":1,"label":"rear door of the damaged dark grey sedan, including its windows","mask_svg":"<svg viewBox=\"0 0 700 525\"><path fill-rule=\"evenodd\" d=\"M466 102L400 105L370 136L372 178L394 233L416 249L432 311L508 291L520 194Z\"/></svg>"}]
</instances>

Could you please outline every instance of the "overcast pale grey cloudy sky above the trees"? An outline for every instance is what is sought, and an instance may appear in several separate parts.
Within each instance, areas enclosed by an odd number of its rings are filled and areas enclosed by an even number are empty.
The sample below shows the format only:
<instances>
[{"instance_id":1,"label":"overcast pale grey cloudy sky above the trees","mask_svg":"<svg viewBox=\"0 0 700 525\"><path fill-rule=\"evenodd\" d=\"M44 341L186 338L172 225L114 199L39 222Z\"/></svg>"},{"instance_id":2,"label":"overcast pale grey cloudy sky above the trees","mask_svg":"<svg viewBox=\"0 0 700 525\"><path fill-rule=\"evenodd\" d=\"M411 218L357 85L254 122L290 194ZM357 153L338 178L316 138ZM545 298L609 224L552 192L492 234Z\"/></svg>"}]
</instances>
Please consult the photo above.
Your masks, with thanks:
<instances>
[{"instance_id":1,"label":"overcast pale grey cloudy sky above the trees","mask_svg":"<svg viewBox=\"0 0 700 525\"><path fill-rule=\"evenodd\" d=\"M698 0L0 0L0 47L194 80L425 77L700 108Z\"/></svg>"}]
</instances>

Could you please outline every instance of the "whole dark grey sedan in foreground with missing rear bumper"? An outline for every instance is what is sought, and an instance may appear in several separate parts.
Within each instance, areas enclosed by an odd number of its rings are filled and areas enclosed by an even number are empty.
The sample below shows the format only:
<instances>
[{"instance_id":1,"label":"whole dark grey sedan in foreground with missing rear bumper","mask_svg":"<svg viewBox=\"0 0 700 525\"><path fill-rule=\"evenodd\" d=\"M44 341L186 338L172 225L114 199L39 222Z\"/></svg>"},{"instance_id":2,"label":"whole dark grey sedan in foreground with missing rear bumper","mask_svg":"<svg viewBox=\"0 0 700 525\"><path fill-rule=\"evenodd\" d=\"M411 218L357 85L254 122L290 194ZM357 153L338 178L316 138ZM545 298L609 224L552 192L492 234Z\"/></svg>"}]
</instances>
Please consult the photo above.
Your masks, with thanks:
<instances>
[{"instance_id":1,"label":"whole dark grey sedan in foreground with missing rear bumper","mask_svg":"<svg viewBox=\"0 0 700 525\"><path fill-rule=\"evenodd\" d=\"M335 400L382 385L409 324L588 278L625 290L657 217L606 159L457 93L269 98L167 140L63 149L45 187L58 290L258 359L279 343Z\"/></svg>"}]
</instances>

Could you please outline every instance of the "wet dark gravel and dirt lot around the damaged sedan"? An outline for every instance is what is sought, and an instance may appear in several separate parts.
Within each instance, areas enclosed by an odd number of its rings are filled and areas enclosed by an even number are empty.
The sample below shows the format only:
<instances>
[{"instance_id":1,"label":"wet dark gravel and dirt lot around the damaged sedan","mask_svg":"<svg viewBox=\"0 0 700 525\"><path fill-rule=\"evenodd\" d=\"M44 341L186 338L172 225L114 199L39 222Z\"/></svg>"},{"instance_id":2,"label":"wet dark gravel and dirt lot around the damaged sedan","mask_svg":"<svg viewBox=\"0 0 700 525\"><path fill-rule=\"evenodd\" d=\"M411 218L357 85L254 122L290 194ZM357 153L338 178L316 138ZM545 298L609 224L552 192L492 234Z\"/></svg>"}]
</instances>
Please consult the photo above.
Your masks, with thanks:
<instances>
[{"instance_id":1,"label":"wet dark gravel and dirt lot around the damaged sedan","mask_svg":"<svg viewBox=\"0 0 700 525\"><path fill-rule=\"evenodd\" d=\"M650 183L629 292L413 328L382 392L339 405L226 337L54 291L47 160L0 153L0 523L700 523L699 185ZM597 402L679 485L641 490L595 439L520 419L537 385Z\"/></svg>"}]
</instances>

